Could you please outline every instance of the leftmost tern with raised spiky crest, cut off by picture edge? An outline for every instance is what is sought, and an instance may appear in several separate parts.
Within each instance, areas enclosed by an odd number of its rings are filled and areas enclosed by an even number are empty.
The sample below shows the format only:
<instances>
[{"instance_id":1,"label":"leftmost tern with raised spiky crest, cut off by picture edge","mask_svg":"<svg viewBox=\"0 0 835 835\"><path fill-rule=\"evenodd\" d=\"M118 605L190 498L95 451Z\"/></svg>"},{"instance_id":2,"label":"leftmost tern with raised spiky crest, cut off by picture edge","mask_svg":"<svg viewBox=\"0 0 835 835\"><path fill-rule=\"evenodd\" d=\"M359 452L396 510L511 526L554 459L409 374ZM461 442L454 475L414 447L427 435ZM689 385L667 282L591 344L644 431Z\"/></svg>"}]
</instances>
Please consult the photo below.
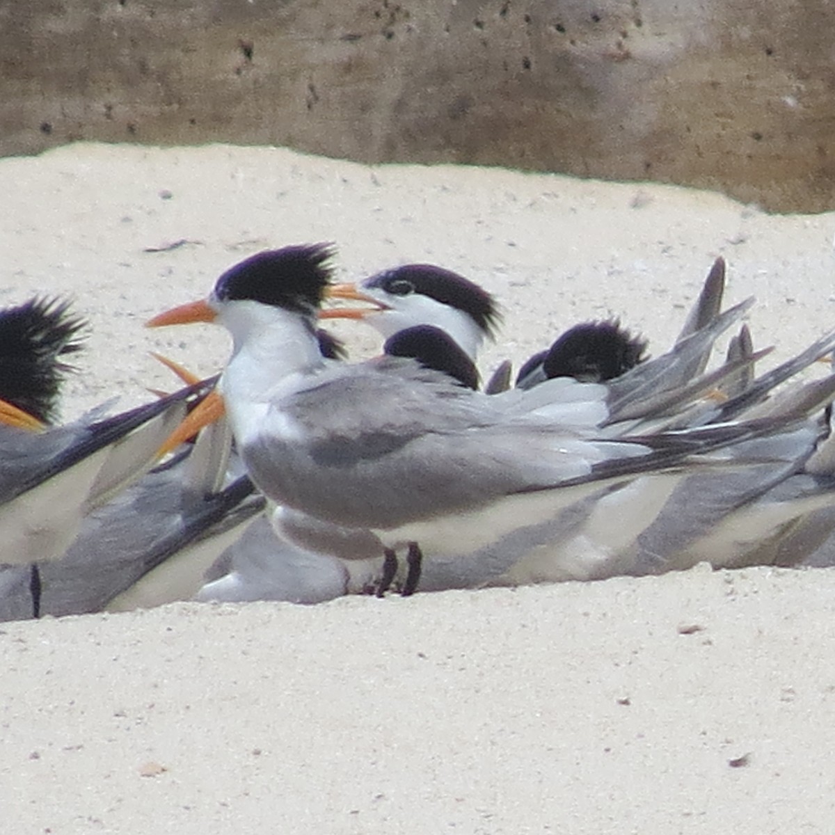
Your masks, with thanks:
<instances>
[{"instance_id":1,"label":"leftmost tern with raised spiky crest, cut off by picture edge","mask_svg":"<svg viewBox=\"0 0 835 835\"><path fill-rule=\"evenodd\" d=\"M0 311L0 562L57 559L83 516L154 463L155 449L185 416L183 391L106 417L99 407L49 426L64 360L80 348L85 322L66 301L33 299Z\"/></svg>"}]
</instances>

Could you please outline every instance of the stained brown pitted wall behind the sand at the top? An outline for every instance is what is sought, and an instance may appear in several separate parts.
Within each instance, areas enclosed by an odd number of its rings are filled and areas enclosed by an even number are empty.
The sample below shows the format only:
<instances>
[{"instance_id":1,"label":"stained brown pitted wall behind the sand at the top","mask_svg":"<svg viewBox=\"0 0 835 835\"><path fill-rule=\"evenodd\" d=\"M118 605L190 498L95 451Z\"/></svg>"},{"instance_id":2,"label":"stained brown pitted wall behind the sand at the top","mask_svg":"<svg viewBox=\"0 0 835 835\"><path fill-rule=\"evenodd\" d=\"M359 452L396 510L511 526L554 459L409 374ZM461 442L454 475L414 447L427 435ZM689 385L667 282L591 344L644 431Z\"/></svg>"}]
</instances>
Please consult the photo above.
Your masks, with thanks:
<instances>
[{"instance_id":1,"label":"stained brown pitted wall behind the sand at the top","mask_svg":"<svg viewBox=\"0 0 835 835\"><path fill-rule=\"evenodd\" d=\"M0 0L0 154L289 145L835 208L827 0Z\"/></svg>"}]
</instances>

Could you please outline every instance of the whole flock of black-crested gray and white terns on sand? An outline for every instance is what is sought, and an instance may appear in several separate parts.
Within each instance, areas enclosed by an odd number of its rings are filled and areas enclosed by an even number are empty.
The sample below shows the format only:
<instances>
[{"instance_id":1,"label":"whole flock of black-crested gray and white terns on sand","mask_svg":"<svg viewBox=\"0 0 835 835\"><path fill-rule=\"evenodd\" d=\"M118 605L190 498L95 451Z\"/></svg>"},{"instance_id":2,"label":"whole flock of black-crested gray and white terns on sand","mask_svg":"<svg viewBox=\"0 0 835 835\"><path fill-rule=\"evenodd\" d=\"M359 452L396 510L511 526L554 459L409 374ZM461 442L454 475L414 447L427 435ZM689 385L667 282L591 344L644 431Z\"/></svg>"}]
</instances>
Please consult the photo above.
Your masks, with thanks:
<instances>
[{"instance_id":1,"label":"whole flock of black-crested gray and white terns on sand","mask_svg":"<svg viewBox=\"0 0 835 835\"><path fill-rule=\"evenodd\" d=\"M0 311L0 620L833 562L835 375L807 369L835 331L757 375L721 259L669 351L583 322L482 385L493 296L428 264L337 284L334 258L231 266L148 323L224 326L218 376L164 359L176 392L66 425L83 319ZM331 318L381 355L348 362Z\"/></svg>"}]
</instances>

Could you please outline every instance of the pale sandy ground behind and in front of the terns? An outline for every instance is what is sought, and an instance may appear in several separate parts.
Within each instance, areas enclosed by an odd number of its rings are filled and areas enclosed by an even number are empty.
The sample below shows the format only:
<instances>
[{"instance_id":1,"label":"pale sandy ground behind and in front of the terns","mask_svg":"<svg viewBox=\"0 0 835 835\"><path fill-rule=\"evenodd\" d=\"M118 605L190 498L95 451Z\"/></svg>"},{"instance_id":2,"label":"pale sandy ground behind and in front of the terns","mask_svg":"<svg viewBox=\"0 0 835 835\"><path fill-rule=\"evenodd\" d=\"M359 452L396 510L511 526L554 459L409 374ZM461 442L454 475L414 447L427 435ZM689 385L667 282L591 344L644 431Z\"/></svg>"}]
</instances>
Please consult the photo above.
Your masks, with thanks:
<instances>
[{"instance_id":1,"label":"pale sandy ground behind and in front of the terns","mask_svg":"<svg viewBox=\"0 0 835 835\"><path fill-rule=\"evenodd\" d=\"M610 314L665 348L717 255L771 362L835 325L833 215L692 190L104 145L0 160L0 187L0 304L71 294L92 323L66 417L173 387L153 348L215 371L220 331L143 321L288 243L483 283L486 369ZM702 567L4 624L0 829L828 832L833 630L830 570Z\"/></svg>"}]
</instances>

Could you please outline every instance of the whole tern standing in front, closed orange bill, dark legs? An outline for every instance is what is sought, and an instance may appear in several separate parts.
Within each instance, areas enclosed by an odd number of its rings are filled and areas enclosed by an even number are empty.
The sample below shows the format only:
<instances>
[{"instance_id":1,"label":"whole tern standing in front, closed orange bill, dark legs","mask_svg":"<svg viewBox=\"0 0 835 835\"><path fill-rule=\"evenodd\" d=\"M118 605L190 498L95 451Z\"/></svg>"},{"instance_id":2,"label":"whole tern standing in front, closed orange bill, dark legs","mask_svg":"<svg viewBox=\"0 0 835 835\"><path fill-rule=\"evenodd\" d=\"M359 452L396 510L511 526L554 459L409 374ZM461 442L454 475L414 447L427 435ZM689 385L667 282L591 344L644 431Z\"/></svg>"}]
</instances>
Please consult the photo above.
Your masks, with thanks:
<instances>
[{"instance_id":1,"label":"whole tern standing in front, closed orange bill, dark legs","mask_svg":"<svg viewBox=\"0 0 835 835\"><path fill-rule=\"evenodd\" d=\"M326 366L313 332L331 255L309 245L251 256L207 300L149 324L226 326L233 349L221 387L251 478L283 508L377 536L382 588L398 549L408 594L424 551L471 554L601 492L616 507L611 497L644 475L669 495L707 453L782 429L766 420L605 438L596 422L514 413L409 360ZM628 504L640 508L640 495ZM663 501L649 504L651 521Z\"/></svg>"}]
</instances>

